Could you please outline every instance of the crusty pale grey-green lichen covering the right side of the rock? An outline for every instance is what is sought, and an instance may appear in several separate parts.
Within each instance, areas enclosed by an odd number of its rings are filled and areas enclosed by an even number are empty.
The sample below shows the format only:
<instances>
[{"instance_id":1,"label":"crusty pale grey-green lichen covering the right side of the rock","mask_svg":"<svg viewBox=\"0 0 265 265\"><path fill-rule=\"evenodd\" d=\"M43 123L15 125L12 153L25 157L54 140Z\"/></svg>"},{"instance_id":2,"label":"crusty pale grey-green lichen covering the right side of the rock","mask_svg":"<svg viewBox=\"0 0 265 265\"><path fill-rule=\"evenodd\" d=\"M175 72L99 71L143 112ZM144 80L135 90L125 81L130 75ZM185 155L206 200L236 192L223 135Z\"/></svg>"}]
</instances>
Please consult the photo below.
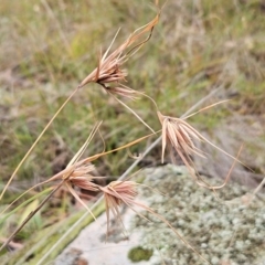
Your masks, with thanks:
<instances>
[{"instance_id":1,"label":"crusty pale grey-green lichen covering the right side of the rock","mask_svg":"<svg viewBox=\"0 0 265 265\"><path fill-rule=\"evenodd\" d=\"M250 189L230 182L213 192L200 188L186 168L168 165L148 169L140 193L149 205L166 218L211 264L258 264L265 259L265 200L250 202ZM218 180L206 179L218 184ZM198 255L150 213L134 220L142 233L141 245L158 251L152 264L203 264ZM151 263L150 263L151 264Z\"/></svg>"}]
</instances>

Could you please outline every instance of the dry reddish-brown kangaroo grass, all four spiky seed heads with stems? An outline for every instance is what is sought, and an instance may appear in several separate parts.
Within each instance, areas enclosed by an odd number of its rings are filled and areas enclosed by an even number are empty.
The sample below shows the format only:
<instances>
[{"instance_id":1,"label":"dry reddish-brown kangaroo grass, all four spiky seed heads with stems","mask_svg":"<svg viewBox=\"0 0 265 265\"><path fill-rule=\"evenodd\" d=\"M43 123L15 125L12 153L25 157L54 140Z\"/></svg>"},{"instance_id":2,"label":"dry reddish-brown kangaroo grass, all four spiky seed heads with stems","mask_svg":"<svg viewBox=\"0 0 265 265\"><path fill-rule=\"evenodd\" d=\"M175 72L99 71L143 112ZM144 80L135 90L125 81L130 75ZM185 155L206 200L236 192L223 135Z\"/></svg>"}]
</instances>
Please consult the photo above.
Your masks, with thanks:
<instances>
[{"instance_id":1,"label":"dry reddish-brown kangaroo grass, all four spiky seed heads with stems","mask_svg":"<svg viewBox=\"0 0 265 265\"><path fill-rule=\"evenodd\" d=\"M158 7L158 1L156 1L156 6ZM86 209L86 213L41 257L41 259L38 262L38 264L41 264L43 261L45 261L45 258L60 244L60 242L62 242L62 240L65 236L67 236L67 234L71 233L71 231L74 227L76 227L80 224L80 222L82 222L87 216L87 214L91 214L96 220L96 216L93 214L93 210L103 200L105 201L106 215L107 215L107 233L109 231L110 213L113 213L115 219L118 219L123 223L120 212L119 212L119 206L121 204L126 204L132 211L135 211L137 214L139 214L141 218L145 218L142 214L138 213L134 209L134 206L138 206L138 208L141 208L145 211L149 212L153 216L158 218L159 220L161 220L183 242L183 244L186 244L188 247L190 247L203 262L210 264L188 241L186 241L186 239L183 236L181 236L181 234L163 216L161 216L155 210L145 205L144 203L137 202L135 200L136 195L137 195L137 190L136 190L137 183L135 181L131 181L131 180L125 180L126 176L128 176L128 173L137 166L137 163L160 141L162 141L162 148L161 148L161 161L162 161L162 163L165 161L165 152L166 152L167 146L172 147L178 152L178 155L180 156L180 158L182 159L182 161L184 162L184 165L187 166L187 168L191 172L191 177L195 180L195 182L199 186L208 188L208 189L212 189L213 191L223 188L227 183L235 162L241 162L239 160L239 156L240 156L240 152L241 152L242 148L240 149L237 157L234 158L230 153L225 152L224 150L216 147L215 145L213 145L208 139L205 139L205 137L203 137L198 130L195 130L187 121L187 119L189 117L191 117L191 116L193 116L193 115L195 115L200 112L206 110L210 107L213 107L218 104L224 103L226 100L206 106L206 107L204 107L204 108L202 108L202 109L200 109L200 110L198 110L198 112L195 112L195 113L193 113L189 116L188 116L188 113L189 113L188 112L182 117L176 118L176 117L170 117L170 116L162 115L159 112L157 103L155 102L153 98L149 97L145 93L135 91L135 89L132 89L132 88L123 84L123 83L126 82L126 77L128 75L128 72L124 68L124 64L136 52L138 52L139 49L145 43L147 43L150 40L150 38L152 35L153 28L157 25L157 23L159 21L159 15L160 15L160 10L157 11L157 15L149 23L147 23L146 25L144 25L139 29L137 29L116 50L110 52L110 50L112 50L112 47L115 43L115 40L117 38L117 34L119 32L118 31L116 33L116 35L114 36L110 45L106 50L106 52L104 54L102 53L102 51L99 52L98 64L97 64L96 68L94 68L94 71L92 71L92 73L89 73L80 83L77 88L75 88L73 91L73 93L67 97L67 99L63 103L63 105L60 107L60 109L55 113L55 115L52 117L52 119L44 127L43 131L36 138L34 144L32 145L32 147L25 153L24 158L21 160L21 162L18 165L14 172L10 177L7 186L4 187L2 193L0 194L0 200L2 199L4 192L7 191L8 187L10 186L11 181L13 180L14 176L18 173L22 163L29 157L30 152L33 150L33 148L36 146L36 144L40 141L43 134L47 130L50 125L54 121L54 119L57 117L60 112L65 107L65 105L71 100L71 98L75 95L76 92L82 91L84 88L84 86L89 84L89 83L96 83L96 84L100 85L100 87L103 87L104 91L106 91L112 97L115 98L115 100L117 100L126 109L128 109L135 117L137 117L147 128L149 128L152 131L152 134L149 134L149 135L146 135L141 138L138 138L134 141L130 141L130 142L121 146L121 147L118 147L118 148L115 148L115 149L112 149L112 150L107 150L107 151L103 150L99 153L92 155L89 157L86 157L86 158L82 159L85 149L88 147L88 145L93 140L95 134L98 132L98 130L99 130L99 126L100 126L102 123L97 123L94 126L94 128L92 129L92 132L89 134L87 140L80 148L80 150L72 158L72 160L68 162L68 165L66 166L66 168L64 170L54 174L53 177L49 178L47 180L45 180L41 183L38 183L36 186L30 188L24 193L22 193L20 197L18 197L17 200L14 200L8 208L6 208L1 212L1 214L3 214L11 205L13 205L19 199L21 199L30 190L32 190L32 189L34 189L39 186L55 182L55 184L53 183L52 191L50 192L50 194L40 203L40 205L34 211L32 211L25 218L25 220L22 222L22 224L19 225L19 227L3 243L3 245L0 247L0 251L3 247L6 247L12 241L12 239L15 236L15 234L24 227L24 225L31 220L31 218L36 212L40 211L40 209L52 198L52 195L61 187L64 186L68 190L68 192ZM215 92L218 89L215 89ZM146 96L156 106L158 120L160 121L161 127L162 127L161 130L155 131L146 121L142 120L142 118L134 109L131 109L127 104L125 104L121 99L119 99L119 97L121 97L121 98L127 98L127 99L135 100L135 99L137 99L138 95ZM211 93L210 96L211 95L213 95L213 94ZM208 97L210 97L210 96L208 96ZM205 97L205 98L208 98L208 97ZM205 100L205 98L200 100L195 105L195 107L198 105L202 104L203 100ZM194 106L193 106L193 108L194 108ZM105 187L99 186L99 184L94 182L94 180L105 178L105 177L95 177L95 176L92 174L92 172L95 169L95 166L92 165L93 161L97 160L98 158L100 158L103 156L107 156L109 153L119 151L121 149L129 148L129 147L131 147L131 146L134 146L134 145L153 136L153 135L157 135L158 132L161 132L161 136L149 146L149 148L131 165L131 167L129 167L126 170L126 172L124 172L124 174L118 180L112 181L110 183L108 183ZM102 135L100 135L100 138L103 139ZM222 186L219 186L219 187L218 186L216 187L209 186L204 180L202 180L200 178L200 176L197 176L193 172L193 169L192 169L193 162L192 162L191 156L206 157L200 149L198 149L195 147L195 144L194 144L195 141L205 141L206 144L209 144L212 147L216 148L218 150L222 151L223 153L225 153L230 158L234 159L234 162L231 167L231 170L230 170L229 174L226 176L226 178L224 180L224 183ZM104 146L105 146L105 142L104 142ZM86 203L80 198L80 195L75 191L75 187L87 190L87 191L99 191L99 192L103 192L103 195L97 200L97 202L95 204L93 204L91 208L88 208L86 205ZM45 190L45 192L50 191L50 190L51 190L51 188L49 190ZM44 193L44 192L42 192L42 193ZM40 193L40 194L42 194L42 193ZM26 200L24 203L29 203L29 202L30 202L30 200ZM24 203L17 206L10 213L6 214L6 216L3 216L2 220L7 220L7 218L9 218L11 213L21 209L21 206L24 205Z\"/></svg>"}]
</instances>

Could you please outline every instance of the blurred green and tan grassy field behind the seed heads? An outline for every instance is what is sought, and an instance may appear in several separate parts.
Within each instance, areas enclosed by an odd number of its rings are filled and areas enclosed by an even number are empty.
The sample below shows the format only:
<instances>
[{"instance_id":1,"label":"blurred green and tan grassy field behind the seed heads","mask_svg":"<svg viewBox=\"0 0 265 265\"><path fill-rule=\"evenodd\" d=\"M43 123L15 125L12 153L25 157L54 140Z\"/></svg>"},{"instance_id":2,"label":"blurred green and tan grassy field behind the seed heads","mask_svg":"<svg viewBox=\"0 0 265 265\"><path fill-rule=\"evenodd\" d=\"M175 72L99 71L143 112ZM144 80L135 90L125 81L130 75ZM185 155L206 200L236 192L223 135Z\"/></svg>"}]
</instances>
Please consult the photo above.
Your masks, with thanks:
<instances>
[{"instance_id":1,"label":"blurred green and tan grassy field behind the seed heads","mask_svg":"<svg viewBox=\"0 0 265 265\"><path fill-rule=\"evenodd\" d=\"M161 2L160 4L162 4ZM1 0L0 4L0 190L62 103L97 65L117 30L117 47L156 15L151 1ZM189 123L214 145L236 156L232 179L257 187L265 173L265 2L263 0L168 0L150 41L126 63L127 85L151 96L165 115L180 117L201 98L201 106L229 103ZM126 102L155 130L160 129L152 103ZM199 107L200 108L200 107ZM97 120L106 149L149 134L128 110L98 85L82 88L63 109L15 176L2 204L64 169ZM142 152L155 138L132 147ZM209 145L209 160L194 158L197 170L223 179L233 162ZM86 153L102 151L96 136ZM161 147L140 167L160 165ZM167 158L170 162L170 158ZM100 176L120 176L134 159L126 151L96 162ZM220 180L221 181L221 180ZM42 189L40 189L42 190ZM30 195L34 192L30 193ZM42 229L70 213L70 194L59 194L32 224ZM54 213L54 214L53 214ZM12 230L15 214L1 230ZM17 240L23 243L30 230Z\"/></svg>"}]
</instances>

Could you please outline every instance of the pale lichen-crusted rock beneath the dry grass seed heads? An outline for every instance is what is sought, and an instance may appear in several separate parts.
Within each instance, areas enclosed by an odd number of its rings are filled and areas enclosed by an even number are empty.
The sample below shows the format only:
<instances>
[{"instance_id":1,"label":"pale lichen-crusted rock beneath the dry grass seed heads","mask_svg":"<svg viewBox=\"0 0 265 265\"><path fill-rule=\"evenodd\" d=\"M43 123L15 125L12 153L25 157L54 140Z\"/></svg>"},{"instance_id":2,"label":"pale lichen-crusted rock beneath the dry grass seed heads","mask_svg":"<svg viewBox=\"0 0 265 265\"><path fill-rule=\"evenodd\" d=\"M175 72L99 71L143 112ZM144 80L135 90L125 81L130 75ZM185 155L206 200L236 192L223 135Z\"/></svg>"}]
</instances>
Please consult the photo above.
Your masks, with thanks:
<instances>
[{"instance_id":1,"label":"pale lichen-crusted rock beneath the dry grass seed heads","mask_svg":"<svg viewBox=\"0 0 265 265\"><path fill-rule=\"evenodd\" d=\"M247 188L233 182L213 192L199 187L184 167L172 165L148 168L139 174L139 179L145 179L145 186L139 186L137 201L161 214L211 264L247 265L265 259L264 197L251 201ZM220 184L216 179L205 180L210 184ZM66 258L74 247L82 253L78 258L89 264L204 264L167 224L150 213L137 211L151 222L130 209L121 209L123 223L129 235L120 223L112 222L106 241L104 214L83 230L56 261ZM137 261L142 258L139 263L128 257L131 251L135 257L135 250L141 251L140 255L136 253ZM149 261L145 261L144 252L152 253Z\"/></svg>"}]
</instances>

